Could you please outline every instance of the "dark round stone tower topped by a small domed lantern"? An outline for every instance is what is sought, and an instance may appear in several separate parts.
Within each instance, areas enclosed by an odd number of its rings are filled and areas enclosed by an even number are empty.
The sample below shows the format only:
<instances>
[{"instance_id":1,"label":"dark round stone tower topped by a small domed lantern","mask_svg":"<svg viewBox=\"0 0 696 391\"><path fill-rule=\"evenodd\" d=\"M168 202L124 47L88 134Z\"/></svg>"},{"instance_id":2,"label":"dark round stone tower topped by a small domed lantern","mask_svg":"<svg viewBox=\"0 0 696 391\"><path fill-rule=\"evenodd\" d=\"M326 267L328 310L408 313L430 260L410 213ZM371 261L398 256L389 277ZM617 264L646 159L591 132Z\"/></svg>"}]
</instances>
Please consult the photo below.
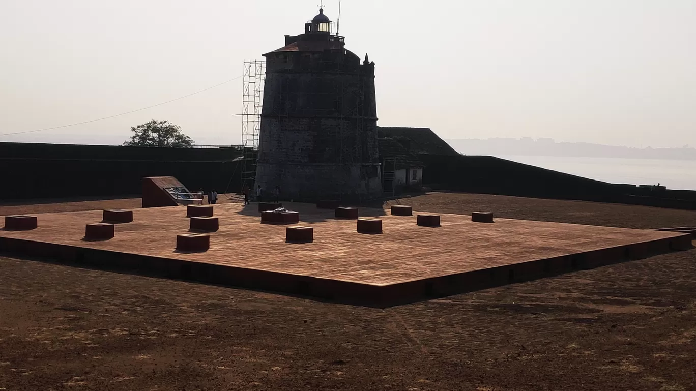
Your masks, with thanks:
<instances>
[{"instance_id":1,"label":"dark round stone tower topped by a small domed lantern","mask_svg":"<svg viewBox=\"0 0 696 391\"><path fill-rule=\"evenodd\" d=\"M256 184L283 198L381 196L374 63L345 49L319 9L300 35L264 54Z\"/></svg>"}]
</instances>

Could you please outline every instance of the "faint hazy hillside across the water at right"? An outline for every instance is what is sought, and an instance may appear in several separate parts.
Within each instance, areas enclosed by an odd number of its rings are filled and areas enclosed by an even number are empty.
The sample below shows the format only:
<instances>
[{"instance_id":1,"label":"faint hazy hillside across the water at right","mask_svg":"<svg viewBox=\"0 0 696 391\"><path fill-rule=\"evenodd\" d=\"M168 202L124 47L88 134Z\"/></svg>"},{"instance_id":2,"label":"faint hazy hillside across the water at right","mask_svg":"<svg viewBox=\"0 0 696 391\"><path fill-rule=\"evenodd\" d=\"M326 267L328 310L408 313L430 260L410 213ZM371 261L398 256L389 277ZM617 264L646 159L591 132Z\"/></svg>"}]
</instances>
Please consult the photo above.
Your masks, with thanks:
<instances>
[{"instance_id":1,"label":"faint hazy hillside across the water at right","mask_svg":"<svg viewBox=\"0 0 696 391\"><path fill-rule=\"evenodd\" d=\"M472 138L445 141L462 154L696 160L696 148L690 147L631 148L591 143L556 143L551 138Z\"/></svg>"}]
</instances>

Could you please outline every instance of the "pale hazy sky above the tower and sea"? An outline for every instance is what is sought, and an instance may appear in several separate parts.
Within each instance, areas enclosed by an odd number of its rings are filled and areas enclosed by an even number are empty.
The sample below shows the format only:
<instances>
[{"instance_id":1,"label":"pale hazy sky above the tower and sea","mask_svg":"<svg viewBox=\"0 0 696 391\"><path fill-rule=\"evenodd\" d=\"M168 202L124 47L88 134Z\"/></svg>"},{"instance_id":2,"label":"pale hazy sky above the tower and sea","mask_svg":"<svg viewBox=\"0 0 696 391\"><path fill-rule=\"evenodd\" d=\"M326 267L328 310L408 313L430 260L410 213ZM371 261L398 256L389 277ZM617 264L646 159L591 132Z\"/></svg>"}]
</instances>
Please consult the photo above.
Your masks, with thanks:
<instances>
[{"instance_id":1,"label":"pale hazy sky above the tower and sea","mask_svg":"<svg viewBox=\"0 0 696 391\"><path fill-rule=\"evenodd\" d=\"M0 0L0 134L101 118L242 74L319 0ZM324 0L335 21L338 0ZM696 146L696 0L343 0L376 63L379 125L443 138ZM155 118L240 142L242 80L0 141L125 141Z\"/></svg>"}]
</instances>

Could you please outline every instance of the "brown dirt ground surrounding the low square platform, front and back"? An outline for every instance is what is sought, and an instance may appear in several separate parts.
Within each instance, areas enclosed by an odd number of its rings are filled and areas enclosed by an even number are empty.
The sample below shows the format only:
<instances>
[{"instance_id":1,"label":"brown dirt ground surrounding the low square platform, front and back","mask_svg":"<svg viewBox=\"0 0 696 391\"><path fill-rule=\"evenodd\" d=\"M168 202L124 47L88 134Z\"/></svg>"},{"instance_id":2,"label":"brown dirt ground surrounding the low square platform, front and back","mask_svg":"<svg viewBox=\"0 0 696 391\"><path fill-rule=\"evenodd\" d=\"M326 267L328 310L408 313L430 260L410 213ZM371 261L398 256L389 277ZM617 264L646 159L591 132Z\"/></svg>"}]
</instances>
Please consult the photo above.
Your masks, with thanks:
<instances>
[{"instance_id":1,"label":"brown dirt ground surrounding the low square platform, front and back","mask_svg":"<svg viewBox=\"0 0 696 391\"><path fill-rule=\"evenodd\" d=\"M696 212L431 193L432 212ZM0 205L0 215L139 200ZM0 258L0 390L696 390L696 250L386 310Z\"/></svg>"}]
</instances>

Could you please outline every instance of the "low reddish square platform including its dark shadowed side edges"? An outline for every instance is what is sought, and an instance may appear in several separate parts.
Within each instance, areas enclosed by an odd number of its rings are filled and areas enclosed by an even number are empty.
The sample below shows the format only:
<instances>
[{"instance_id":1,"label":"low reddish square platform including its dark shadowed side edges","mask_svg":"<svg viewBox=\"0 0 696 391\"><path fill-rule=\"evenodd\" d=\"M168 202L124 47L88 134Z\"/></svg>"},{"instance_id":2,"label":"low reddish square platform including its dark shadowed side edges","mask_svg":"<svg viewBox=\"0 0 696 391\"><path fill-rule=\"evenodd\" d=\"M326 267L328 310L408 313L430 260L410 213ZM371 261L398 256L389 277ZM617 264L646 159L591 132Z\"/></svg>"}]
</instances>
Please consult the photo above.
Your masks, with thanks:
<instances>
[{"instance_id":1,"label":"low reddish square platform including its dark shadowed side edges","mask_svg":"<svg viewBox=\"0 0 696 391\"><path fill-rule=\"evenodd\" d=\"M175 250L189 231L186 207L134 209L108 241L85 241L87 223L102 211L38 214L38 228L0 230L0 251L58 262L134 271L224 285L302 294L367 305L394 305L493 285L552 276L691 246L688 234L442 214L441 227L416 225L416 215L383 219L383 234L356 232L355 220L333 210L290 204L314 241L285 243L285 225L260 223L256 205L216 205L219 231L205 253ZM463 210L463 213L473 212ZM493 211L494 212L494 211ZM386 214L386 215L385 215Z\"/></svg>"}]
</instances>

